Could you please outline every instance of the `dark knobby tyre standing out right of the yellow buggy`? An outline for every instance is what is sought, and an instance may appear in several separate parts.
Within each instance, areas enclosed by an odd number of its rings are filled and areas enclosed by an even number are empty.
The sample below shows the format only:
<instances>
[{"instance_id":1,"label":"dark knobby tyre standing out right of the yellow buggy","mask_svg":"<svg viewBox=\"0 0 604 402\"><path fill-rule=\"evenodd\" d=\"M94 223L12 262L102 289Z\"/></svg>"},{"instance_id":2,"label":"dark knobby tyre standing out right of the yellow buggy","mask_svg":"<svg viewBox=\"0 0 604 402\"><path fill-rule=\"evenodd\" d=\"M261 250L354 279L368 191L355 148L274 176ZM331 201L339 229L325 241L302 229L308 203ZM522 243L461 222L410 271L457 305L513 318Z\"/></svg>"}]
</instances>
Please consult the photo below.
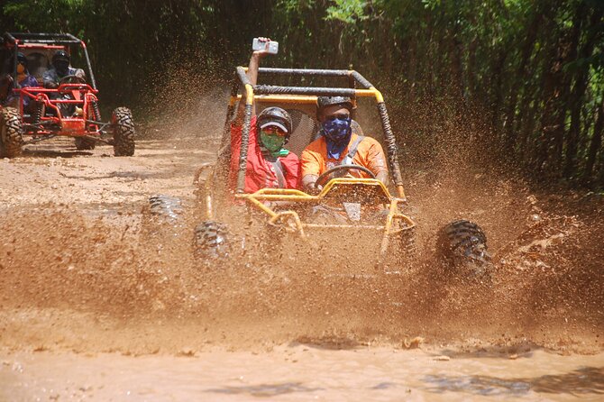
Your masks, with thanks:
<instances>
[{"instance_id":1,"label":"dark knobby tyre standing out right of the yellow buggy","mask_svg":"<svg viewBox=\"0 0 604 402\"><path fill-rule=\"evenodd\" d=\"M478 224L467 220L446 224L438 233L436 248L445 268L455 276L490 280L487 236Z\"/></svg>"}]
</instances>

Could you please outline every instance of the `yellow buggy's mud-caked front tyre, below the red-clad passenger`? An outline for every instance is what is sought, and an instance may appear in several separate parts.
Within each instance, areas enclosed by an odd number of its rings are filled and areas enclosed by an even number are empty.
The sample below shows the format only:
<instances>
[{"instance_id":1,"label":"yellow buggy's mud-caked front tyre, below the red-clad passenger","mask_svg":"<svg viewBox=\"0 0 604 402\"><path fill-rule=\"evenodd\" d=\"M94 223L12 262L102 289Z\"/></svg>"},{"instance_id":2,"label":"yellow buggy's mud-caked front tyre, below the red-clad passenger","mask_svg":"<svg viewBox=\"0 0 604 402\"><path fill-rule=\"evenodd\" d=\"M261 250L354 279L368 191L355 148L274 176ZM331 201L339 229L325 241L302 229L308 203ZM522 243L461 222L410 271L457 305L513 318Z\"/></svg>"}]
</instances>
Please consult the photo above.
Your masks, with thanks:
<instances>
[{"instance_id":1,"label":"yellow buggy's mud-caked front tyre, below the red-clad passenger","mask_svg":"<svg viewBox=\"0 0 604 402\"><path fill-rule=\"evenodd\" d=\"M206 221L197 225L193 238L196 260L204 263L225 260L229 256L229 251L226 225L215 221Z\"/></svg>"}]
</instances>

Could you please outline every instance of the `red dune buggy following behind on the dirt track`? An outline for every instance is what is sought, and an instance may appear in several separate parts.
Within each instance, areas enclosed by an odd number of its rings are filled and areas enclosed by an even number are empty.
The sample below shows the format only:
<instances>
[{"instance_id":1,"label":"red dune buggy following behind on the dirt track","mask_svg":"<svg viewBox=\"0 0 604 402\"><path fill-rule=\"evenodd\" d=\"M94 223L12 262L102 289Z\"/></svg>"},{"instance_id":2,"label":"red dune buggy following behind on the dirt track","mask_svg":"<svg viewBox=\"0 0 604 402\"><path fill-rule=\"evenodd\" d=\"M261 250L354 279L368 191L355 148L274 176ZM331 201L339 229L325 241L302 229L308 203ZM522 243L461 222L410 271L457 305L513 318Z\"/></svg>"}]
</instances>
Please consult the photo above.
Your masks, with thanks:
<instances>
[{"instance_id":1,"label":"red dune buggy following behind on the dirt track","mask_svg":"<svg viewBox=\"0 0 604 402\"><path fill-rule=\"evenodd\" d=\"M87 79L63 77L59 87L43 87L42 75L50 69L55 52L78 48L86 61ZM29 73L38 87L20 87L17 54L27 59ZM115 156L134 154L134 123L129 109L114 109L103 122L98 90L86 43L69 33L8 33L0 41L0 157L19 156L23 145L56 136L75 138L78 150L92 150L96 143L112 144ZM25 106L26 105L26 106ZM109 138L106 138L109 137Z\"/></svg>"}]
</instances>

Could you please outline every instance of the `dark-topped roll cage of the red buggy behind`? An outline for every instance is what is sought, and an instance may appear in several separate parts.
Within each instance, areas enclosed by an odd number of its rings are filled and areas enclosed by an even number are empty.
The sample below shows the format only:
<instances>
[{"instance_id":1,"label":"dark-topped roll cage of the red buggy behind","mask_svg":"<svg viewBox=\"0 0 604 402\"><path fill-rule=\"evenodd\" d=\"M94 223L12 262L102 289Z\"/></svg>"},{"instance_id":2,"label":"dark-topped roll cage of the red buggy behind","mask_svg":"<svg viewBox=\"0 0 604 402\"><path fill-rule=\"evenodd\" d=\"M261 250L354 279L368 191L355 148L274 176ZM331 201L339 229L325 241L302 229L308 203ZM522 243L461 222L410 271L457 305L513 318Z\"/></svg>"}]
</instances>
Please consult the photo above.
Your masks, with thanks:
<instances>
[{"instance_id":1,"label":"dark-topped roll cage of the red buggy behind","mask_svg":"<svg viewBox=\"0 0 604 402\"><path fill-rule=\"evenodd\" d=\"M17 58L16 54L19 51L19 46L23 48L28 47L28 44L38 45L77 45L79 44L84 50L84 57L86 59L88 77L90 78L90 86L96 90L95 75L92 72L92 66L90 65L90 58L88 57L88 50L86 43L81 39L76 38L71 33L30 33L30 32L5 32L2 36L5 43L13 45L14 48L14 66L13 66L13 79L16 82L17 79Z\"/></svg>"}]
</instances>

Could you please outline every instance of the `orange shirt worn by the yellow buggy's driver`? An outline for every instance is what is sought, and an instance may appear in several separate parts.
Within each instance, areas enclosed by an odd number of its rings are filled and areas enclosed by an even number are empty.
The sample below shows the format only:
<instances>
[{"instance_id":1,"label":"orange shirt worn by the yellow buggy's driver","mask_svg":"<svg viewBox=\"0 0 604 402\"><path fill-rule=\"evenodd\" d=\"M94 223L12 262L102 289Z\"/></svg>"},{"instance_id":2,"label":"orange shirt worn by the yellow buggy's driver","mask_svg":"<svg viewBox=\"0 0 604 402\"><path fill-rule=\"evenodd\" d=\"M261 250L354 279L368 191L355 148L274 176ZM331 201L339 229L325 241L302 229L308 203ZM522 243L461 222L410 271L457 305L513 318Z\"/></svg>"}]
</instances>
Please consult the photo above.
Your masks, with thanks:
<instances>
[{"instance_id":1,"label":"orange shirt worn by the yellow buggy's driver","mask_svg":"<svg viewBox=\"0 0 604 402\"><path fill-rule=\"evenodd\" d=\"M302 152L300 164L302 165L302 175L319 176L325 170L339 165L340 162L348 155L348 149L357 139L358 135L352 132L351 140L348 142L346 149L340 153L340 159L333 160L327 158L327 143L325 137L321 136L318 140L308 144L307 148ZM357 152L352 158L352 163L370 169L373 174L377 175L381 171L388 171L386 157L381 148L380 142L375 141L371 137L365 137L358 145ZM361 170L350 170L350 174L355 178L369 178L367 173Z\"/></svg>"}]
</instances>

